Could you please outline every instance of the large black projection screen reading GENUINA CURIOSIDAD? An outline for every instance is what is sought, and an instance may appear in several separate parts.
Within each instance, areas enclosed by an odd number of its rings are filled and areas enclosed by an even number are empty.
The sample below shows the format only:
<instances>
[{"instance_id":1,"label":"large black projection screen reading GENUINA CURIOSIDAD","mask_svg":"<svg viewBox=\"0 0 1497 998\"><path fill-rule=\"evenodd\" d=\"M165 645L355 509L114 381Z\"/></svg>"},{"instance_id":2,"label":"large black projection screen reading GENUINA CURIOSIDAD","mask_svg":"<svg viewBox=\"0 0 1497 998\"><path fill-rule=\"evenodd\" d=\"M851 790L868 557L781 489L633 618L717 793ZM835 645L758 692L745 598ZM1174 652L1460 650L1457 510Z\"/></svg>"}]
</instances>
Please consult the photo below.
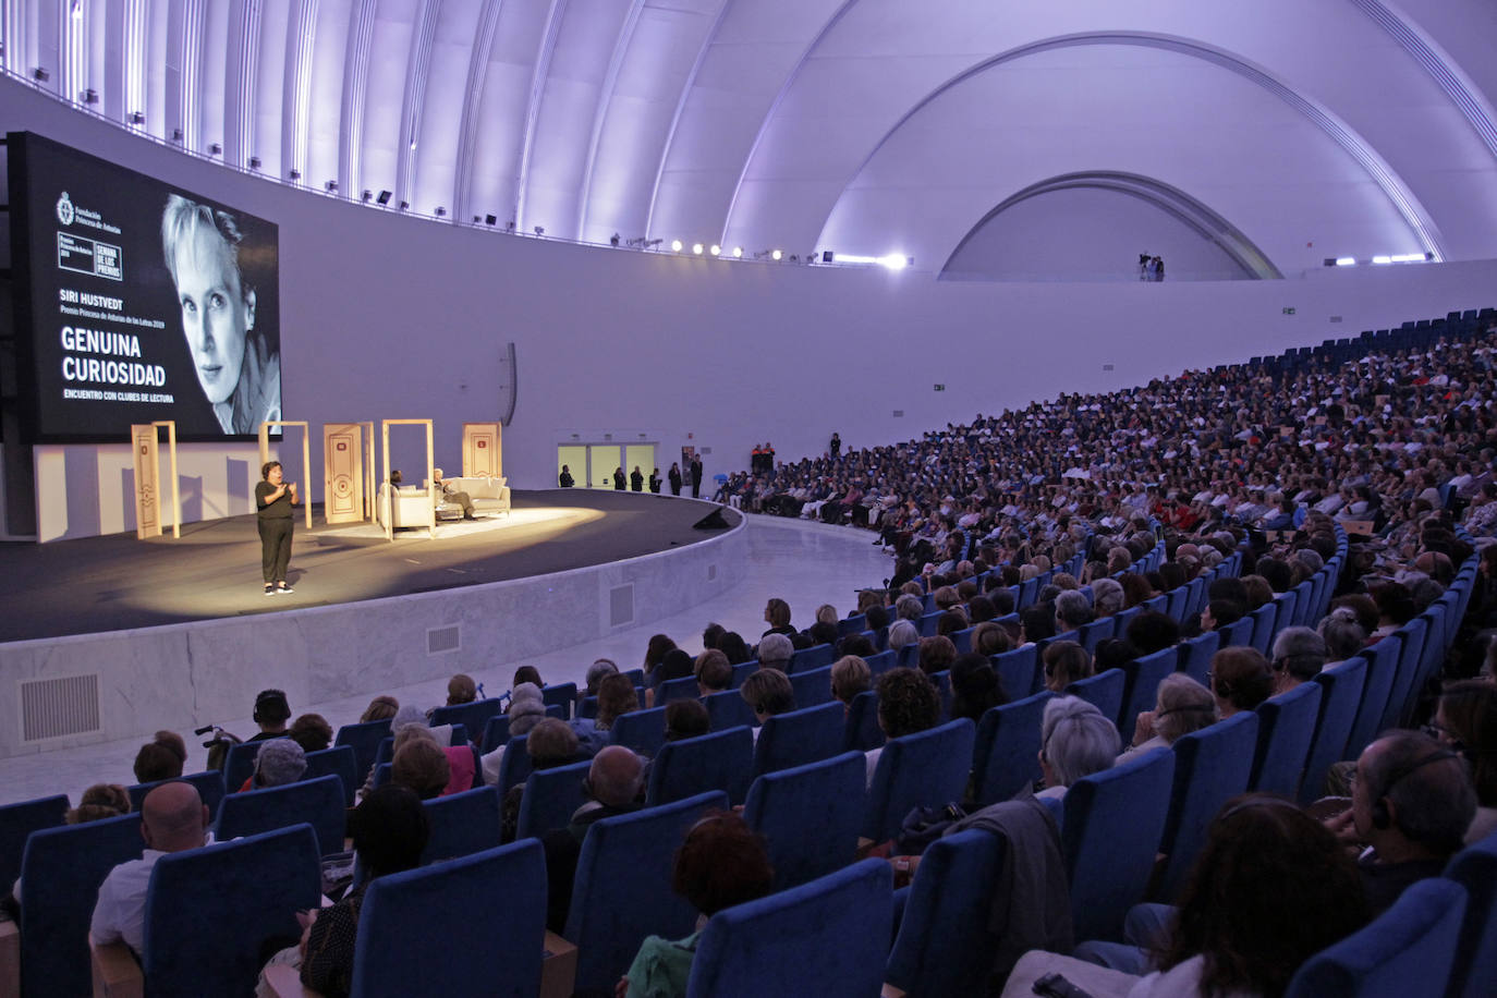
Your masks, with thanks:
<instances>
[{"instance_id":1,"label":"large black projection screen reading GENUINA CURIOSIDAD","mask_svg":"<svg viewBox=\"0 0 1497 998\"><path fill-rule=\"evenodd\" d=\"M281 419L277 227L28 132L7 135L22 429L187 441ZM28 382L28 383L27 383Z\"/></svg>"}]
</instances>

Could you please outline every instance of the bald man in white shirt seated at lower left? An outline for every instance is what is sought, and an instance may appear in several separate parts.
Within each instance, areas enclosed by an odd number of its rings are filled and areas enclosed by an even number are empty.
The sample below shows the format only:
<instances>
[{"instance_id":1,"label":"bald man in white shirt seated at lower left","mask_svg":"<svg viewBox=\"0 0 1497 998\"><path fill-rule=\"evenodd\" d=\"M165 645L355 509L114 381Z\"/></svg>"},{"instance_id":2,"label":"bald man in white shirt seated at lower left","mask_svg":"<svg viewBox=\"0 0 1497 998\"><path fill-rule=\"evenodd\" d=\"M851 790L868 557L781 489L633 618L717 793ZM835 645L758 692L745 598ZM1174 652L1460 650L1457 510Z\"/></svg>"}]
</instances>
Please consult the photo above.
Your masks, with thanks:
<instances>
[{"instance_id":1,"label":"bald man in white shirt seated at lower left","mask_svg":"<svg viewBox=\"0 0 1497 998\"><path fill-rule=\"evenodd\" d=\"M109 871L99 886L99 902L88 926L94 943L123 940L136 956L145 935L145 889L156 860L213 841L208 806L198 796L198 789L175 780L145 795L141 802L141 836L145 853Z\"/></svg>"}]
</instances>

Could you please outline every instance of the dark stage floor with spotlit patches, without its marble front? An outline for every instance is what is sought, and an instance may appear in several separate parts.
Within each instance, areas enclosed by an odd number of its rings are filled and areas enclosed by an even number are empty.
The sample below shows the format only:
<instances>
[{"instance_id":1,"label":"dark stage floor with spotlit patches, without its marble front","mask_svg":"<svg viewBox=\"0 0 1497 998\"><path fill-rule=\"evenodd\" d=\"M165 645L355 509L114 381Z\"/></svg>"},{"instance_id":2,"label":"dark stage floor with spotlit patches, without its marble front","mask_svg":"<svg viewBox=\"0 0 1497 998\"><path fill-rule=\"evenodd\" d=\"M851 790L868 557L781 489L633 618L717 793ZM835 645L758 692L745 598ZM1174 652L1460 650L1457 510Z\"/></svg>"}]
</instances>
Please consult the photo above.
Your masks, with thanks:
<instances>
[{"instance_id":1,"label":"dark stage floor with spotlit patches, without its marble front","mask_svg":"<svg viewBox=\"0 0 1497 998\"><path fill-rule=\"evenodd\" d=\"M590 489L513 492L513 515L439 525L391 543L373 524L296 519L290 596L263 596L253 516L136 540L111 534L46 545L0 545L0 640L90 634L183 621L353 603L621 561L689 545L714 507ZM740 516L725 510L729 524Z\"/></svg>"}]
</instances>

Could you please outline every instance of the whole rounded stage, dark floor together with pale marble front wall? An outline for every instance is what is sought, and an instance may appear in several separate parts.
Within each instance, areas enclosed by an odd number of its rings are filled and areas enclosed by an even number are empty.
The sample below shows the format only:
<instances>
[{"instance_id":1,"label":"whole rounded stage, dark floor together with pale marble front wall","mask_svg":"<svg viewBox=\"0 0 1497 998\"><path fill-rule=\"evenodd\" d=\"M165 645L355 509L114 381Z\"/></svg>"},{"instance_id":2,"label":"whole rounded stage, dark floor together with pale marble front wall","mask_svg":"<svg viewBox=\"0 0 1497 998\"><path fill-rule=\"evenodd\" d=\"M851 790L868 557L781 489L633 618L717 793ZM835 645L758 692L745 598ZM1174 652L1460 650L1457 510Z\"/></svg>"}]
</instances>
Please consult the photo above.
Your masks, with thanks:
<instances>
[{"instance_id":1,"label":"whole rounded stage, dark floor together with pale marble front wall","mask_svg":"<svg viewBox=\"0 0 1497 998\"><path fill-rule=\"evenodd\" d=\"M313 703L603 637L744 572L743 518L636 492L515 492L513 512L385 540L298 521L295 593L263 596L253 516L0 546L0 757L237 717L254 691Z\"/></svg>"}]
</instances>

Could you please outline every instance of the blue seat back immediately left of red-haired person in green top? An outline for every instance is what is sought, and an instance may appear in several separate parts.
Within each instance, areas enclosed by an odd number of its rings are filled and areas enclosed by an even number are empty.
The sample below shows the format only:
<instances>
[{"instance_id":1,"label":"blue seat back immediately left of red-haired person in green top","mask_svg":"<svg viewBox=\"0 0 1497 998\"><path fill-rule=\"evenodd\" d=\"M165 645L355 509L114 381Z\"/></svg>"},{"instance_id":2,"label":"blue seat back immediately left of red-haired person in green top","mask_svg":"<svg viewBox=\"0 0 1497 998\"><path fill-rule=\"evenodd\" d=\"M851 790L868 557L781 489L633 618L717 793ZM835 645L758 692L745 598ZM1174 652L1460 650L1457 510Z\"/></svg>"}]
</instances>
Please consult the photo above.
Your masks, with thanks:
<instances>
[{"instance_id":1,"label":"blue seat back immediately left of red-haired person in green top","mask_svg":"<svg viewBox=\"0 0 1497 998\"><path fill-rule=\"evenodd\" d=\"M561 932L578 949L576 991L612 988L647 935L692 932L696 911L671 890L675 850L704 811L726 808L728 795L699 793L587 829Z\"/></svg>"}]
</instances>

